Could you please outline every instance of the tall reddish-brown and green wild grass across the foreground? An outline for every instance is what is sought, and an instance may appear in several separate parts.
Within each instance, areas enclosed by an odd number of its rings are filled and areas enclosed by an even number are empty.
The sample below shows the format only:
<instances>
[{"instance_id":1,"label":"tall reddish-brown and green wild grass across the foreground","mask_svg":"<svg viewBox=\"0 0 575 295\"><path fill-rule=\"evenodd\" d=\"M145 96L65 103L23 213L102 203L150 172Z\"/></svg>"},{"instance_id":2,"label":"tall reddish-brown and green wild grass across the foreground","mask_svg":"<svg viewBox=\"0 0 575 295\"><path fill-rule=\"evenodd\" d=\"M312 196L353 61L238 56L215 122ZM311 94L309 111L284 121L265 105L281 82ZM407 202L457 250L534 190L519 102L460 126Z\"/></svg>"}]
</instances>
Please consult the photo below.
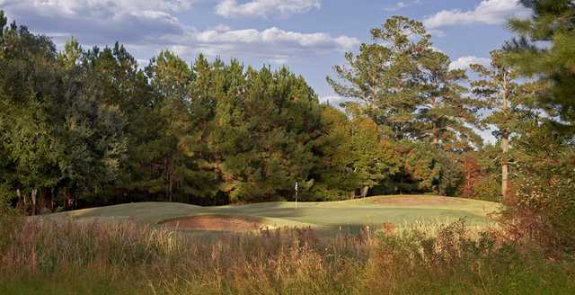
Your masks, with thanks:
<instances>
[{"instance_id":1,"label":"tall reddish-brown and green wild grass across the foreground","mask_svg":"<svg viewBox=\"0 0 575 295\"><path fill-rule=\"evenodd\" d=\"M4 218L1 294L572 294L575 262L463 221L318 237ZM431 234L432 232L432 234Z\"/></svg>"}]
</instances>

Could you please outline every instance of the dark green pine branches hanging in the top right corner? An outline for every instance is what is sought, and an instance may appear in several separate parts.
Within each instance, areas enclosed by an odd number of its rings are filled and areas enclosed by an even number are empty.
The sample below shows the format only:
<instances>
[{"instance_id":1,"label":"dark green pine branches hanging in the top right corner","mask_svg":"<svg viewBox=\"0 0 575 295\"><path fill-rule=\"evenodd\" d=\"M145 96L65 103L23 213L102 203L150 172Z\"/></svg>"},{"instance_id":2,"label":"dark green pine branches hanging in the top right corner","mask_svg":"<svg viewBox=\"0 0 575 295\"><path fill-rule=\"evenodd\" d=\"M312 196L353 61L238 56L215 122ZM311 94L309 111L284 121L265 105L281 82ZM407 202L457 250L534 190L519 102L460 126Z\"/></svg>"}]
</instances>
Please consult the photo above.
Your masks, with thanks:
<instances>
[{"instance_id":1,"label":"dark green pine branches hanging in the top right corner","mask_svg":"<svg viewBox=\"0 0 575 295\"><path fill-rule=\"evenodd\" d=\"M534 10L531 19L511 20L519 37L506 44L506 62L545 85L538 103L560 108L563 121L575 121L575 4L568 0L524 1ZM549 46L538 46L545 42Z\"/></svg>"}]
</instances>

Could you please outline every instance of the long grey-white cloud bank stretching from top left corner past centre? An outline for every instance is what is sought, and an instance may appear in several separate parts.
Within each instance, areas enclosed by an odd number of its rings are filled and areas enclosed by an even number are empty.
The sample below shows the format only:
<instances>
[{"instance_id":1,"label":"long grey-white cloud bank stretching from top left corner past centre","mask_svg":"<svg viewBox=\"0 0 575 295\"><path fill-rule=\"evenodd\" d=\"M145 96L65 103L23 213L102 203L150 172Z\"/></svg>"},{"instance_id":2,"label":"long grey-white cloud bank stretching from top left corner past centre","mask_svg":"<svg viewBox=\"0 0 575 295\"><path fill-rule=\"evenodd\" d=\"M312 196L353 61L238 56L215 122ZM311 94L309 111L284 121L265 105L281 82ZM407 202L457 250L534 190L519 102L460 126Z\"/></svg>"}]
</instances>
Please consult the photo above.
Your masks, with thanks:
<instances>
[{"instance_id":1,"label":"long grey-white cloud bank stretching from top left corner past centre","mask_svg":"<svg viewBox=\"0 0 575 295\"><path fill-rule=\"evenodd\" d=\"M57 43L70 36L87 46L119 40L128 49L146 52L147 57L161 49L173 49L182 58L203 52L284 63L288 58L347 51L359 44L359 40L347 36L276 27L234 30L218 25L199 30L173 15L175 10L190 9L195 1L140 0L133 4L131 0L7 0L0 8L11 19L53 37Z\"/></svg>"}]
</instances>

